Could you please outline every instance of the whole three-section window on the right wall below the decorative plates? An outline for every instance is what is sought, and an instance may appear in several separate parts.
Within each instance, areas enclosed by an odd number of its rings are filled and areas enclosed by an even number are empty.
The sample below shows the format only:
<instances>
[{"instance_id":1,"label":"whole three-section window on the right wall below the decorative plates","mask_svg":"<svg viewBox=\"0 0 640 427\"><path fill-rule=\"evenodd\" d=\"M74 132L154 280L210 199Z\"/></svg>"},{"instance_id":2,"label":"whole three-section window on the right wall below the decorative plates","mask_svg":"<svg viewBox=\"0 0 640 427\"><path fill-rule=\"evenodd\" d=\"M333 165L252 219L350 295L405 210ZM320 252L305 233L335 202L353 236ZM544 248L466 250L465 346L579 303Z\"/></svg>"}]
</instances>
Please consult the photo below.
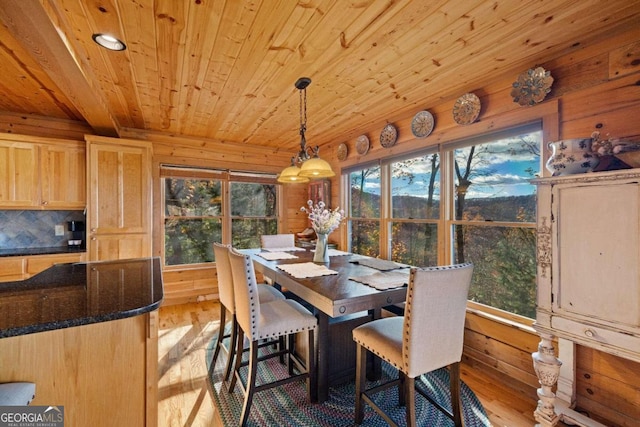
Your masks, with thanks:
<instances>
[{"instance_id":1,"label":"whole three-section window on the right wall below the decorative plates","mask_svg":"<svg viewBox=\"0 0 640 427\"><path fill-rule=\"evenodd\" d=\"M349 249L414 266L471 261L470 300L534 318L529 181L541 145L535 124L347 171Z\"/></svg>"}]
</instances>

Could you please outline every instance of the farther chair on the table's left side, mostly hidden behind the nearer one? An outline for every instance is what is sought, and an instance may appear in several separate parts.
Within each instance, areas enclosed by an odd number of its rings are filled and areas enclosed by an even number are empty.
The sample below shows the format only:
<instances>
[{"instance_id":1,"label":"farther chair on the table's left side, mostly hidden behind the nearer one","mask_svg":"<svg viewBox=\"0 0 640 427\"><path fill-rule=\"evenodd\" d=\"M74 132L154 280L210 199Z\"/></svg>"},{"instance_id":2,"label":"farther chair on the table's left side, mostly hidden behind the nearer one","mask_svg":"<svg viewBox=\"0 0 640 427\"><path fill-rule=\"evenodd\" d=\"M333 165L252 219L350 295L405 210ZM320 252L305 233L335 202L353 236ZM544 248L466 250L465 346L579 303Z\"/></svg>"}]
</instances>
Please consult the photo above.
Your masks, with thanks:
<instances>
[{"instance_id":1,"label":"farther chair on the table's left side, mostly hidden behind the nearer one","mask_svg":"<svg viewBox=\"0 0 640 427\"><path fill-rule=\"evenodd\" d=\"M209 369L212 371L216 366L220 349L224 348L223 340L230 338L229 348L227 352L227 365L225 367L224 380L229 379L231 367L236 351L236 338L238 336L238 324L236 321L235 300L233 296L233 275L231 273L231 264L229 263L230 246L221 243L213 244L213 252L216 260L216 270L218 272L218 295L220 298L220 328L218 329L218 340L215 350L213 351L213 359ZM256 286L258 299L260 302L268 302L285 299L284 295L276 288L266 284ZM231 331L229 335L225 334L225 325L227 323L227 312L231 315Z\"/></svg>"}]
</instances>

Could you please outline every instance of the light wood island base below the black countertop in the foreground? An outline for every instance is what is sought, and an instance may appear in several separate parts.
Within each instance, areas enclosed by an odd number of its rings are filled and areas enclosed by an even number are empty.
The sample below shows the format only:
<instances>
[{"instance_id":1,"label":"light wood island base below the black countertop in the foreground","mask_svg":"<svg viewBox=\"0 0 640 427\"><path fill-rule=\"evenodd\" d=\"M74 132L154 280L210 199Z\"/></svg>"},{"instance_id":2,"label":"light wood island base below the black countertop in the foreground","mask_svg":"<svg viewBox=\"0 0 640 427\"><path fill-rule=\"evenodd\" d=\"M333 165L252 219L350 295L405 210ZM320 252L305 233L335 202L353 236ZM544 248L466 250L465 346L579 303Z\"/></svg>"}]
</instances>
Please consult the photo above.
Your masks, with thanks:
<instances>
[{"instance_id":1,"label":"light wood island base below the black countertop in the foreground","mask_svg":"<svg viewBox=\"0 0 640 427\"><path fill-rule=\"evenodd\" d=\"M65 426L157 426L157 317L0 339L3 366L11 367L0 382L36 383L31 404L64 406Z\"/></svg>"}]
</instances>

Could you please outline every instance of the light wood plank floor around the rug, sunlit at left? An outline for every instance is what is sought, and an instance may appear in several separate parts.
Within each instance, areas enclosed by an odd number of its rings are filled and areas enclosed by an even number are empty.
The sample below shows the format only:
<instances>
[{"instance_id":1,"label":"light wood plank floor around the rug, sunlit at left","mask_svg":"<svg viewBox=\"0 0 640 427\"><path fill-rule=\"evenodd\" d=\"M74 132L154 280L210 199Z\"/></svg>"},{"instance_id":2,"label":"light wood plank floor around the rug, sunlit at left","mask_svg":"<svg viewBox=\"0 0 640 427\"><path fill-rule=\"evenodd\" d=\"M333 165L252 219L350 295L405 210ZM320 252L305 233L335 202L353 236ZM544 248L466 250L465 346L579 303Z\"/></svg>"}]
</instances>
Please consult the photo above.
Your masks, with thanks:
<instances>
[{"instance_id":1,"label":"light wood plank floor around the rug, sunlit at left","mask_svg":"<svg viewBox=\"0 0 640 427\"><path fill-rule=\"evenodd\" d=\"M159 427L220 426L207 389L205 349L218 328L217 302L160 308ZM525 396L462 365L462 379L475 392L495 427L531 427L536 396Z\"/></svg>"}]
</instances>

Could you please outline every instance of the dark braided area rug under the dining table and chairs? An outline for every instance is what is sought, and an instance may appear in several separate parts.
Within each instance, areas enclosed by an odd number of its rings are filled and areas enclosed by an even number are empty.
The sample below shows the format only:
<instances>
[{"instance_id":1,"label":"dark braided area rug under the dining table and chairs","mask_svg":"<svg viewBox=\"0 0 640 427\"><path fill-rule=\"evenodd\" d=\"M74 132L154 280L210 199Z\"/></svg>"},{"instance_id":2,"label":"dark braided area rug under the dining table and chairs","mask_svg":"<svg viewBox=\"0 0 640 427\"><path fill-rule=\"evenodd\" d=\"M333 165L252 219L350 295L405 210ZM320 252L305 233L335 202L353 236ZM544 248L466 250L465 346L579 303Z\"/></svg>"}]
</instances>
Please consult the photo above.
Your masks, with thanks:
<instances>
[{"instance_id":1,"label":"dark braided area rug under the dining table and chairs","mask_svg":"<svg viewBox=\"0 0 640 427\"><path fill-rule=\"evenodd\" d=\"M216 337L209 343L206 352L207 366L211 364ZM233 393L229 393L229 384L223 382L226 353L220 352L215 369L209 380L211 392L217 410L225 427L238 425L242 411L243 397L239 387ZM246 358L246 354L245 354ZM287 376L287 369L278 358L262 362L259 365L260 382L273 381ZM246 371L246 368L245 368ZM391 376L397 377L397 372L383 363L383 381ZM246 377L245 377L246 378ZM416 381L416 384L418 381ZM370 386L371 384L368 384ZM444 402L450 407L449 399L449 374L446 369L423 375L420 387L434 400ZM462 383L461 395L463 401L463 413L466 427L490 426L491 423L476 395ZM453 422L431 405L426 399L416 393L416 415L420 426L453 426ZM307 402L305 383L302 381L286 384L270 390L257 393L253 398L250 426L327 426L342 427L353 426L353 411L355 406L355 384L345 383L331 387L329 399L322 404ZM400 425L404 423L404 407L398 406L397 388L393 387L376 395L376 403L381 405L391 415L392 419ZM370 407L365 405L365 420L362 426L383 427L387 423L380 418Z\"/></svg>"}]
</instances>

